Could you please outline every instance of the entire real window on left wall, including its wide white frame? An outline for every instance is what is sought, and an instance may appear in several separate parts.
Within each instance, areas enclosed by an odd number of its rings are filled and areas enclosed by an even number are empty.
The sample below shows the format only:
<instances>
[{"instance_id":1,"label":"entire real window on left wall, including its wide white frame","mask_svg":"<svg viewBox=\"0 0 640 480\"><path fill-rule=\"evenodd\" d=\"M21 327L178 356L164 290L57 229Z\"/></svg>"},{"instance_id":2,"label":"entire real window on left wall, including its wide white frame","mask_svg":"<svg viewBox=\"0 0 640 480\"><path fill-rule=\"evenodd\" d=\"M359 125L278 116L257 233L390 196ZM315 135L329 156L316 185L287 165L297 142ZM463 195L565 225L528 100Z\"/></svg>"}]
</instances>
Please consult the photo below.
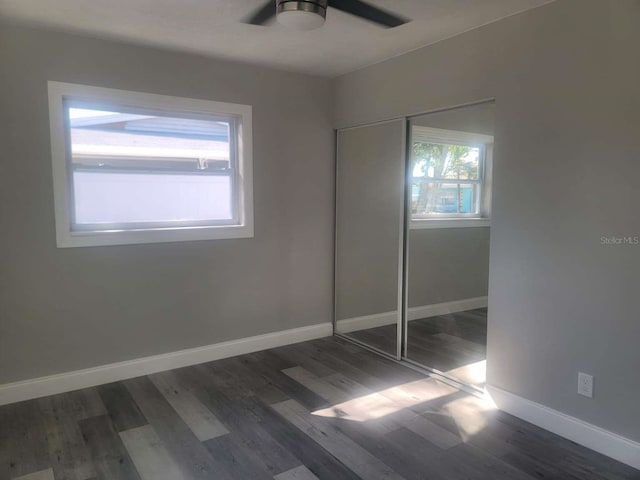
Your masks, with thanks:
<instances>
[{"instance_id":1,"label":"entire real window on left wall, including its wide white frame","mask_svg":"<svg viewBox=\"0 0 640 480\"><path fill-rule=\"evenodd\" d=\"M251 107L49 82L59 247L253 236Z\"/></svg>"}]
</instances>

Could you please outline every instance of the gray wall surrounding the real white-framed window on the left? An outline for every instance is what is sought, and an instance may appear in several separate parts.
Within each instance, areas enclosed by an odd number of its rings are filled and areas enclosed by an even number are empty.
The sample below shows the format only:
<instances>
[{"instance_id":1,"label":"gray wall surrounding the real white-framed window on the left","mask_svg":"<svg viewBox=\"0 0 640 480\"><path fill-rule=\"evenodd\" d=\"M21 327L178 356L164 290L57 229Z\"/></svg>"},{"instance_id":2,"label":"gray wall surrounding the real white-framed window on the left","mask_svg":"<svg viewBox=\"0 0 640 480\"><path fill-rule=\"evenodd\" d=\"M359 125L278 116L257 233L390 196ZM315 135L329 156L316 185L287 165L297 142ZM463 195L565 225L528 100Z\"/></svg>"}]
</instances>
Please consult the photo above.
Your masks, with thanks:
<instances>
[{"instance_id":1,"label":"gray wall surrounding the real white-framed window on the left","mask_svg":"<svg viewBox=\"0 0 640 480\"><path fill-rule=\"evenodd\" d=\"M0 384L329 322L330 85L0 27ZM255 238L57 249L47 80L253 105Z\"/></svg>"}]
</instances>

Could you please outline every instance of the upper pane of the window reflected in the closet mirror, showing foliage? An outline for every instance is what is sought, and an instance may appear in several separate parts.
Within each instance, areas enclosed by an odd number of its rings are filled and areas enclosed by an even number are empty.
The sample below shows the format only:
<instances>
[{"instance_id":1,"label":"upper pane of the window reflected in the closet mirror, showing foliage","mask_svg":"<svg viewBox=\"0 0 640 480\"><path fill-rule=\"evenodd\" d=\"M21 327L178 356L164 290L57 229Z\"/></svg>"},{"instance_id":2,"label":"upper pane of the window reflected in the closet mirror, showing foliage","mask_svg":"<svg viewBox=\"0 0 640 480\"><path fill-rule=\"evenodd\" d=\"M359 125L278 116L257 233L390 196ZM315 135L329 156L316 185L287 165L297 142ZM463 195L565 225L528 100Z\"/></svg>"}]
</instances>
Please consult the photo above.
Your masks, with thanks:
<instances>
[{"instance_id":1,"label":"upper pane of the window reflected in the closet mirror, showing foliage","mask_svg":"<svg viewBox=\"0 0 640 480\"><path fill-rule=\"evenodd\" d=\"M444 143L414 142L414 177L448 180L480 178L480 148Z\"/></svg>"}]
</instances>

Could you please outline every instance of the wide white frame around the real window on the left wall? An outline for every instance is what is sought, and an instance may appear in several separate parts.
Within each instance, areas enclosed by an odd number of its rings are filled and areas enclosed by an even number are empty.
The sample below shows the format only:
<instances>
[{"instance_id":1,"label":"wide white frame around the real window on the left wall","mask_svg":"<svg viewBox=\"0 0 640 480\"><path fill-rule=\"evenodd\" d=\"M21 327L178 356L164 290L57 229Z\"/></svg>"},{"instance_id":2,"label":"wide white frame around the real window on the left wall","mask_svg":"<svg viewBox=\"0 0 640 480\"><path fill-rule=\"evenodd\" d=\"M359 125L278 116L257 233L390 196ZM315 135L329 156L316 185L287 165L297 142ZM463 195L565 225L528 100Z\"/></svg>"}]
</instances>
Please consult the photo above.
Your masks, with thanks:
<instances>
[{"instance_id":1,"label":"wide white frame around the real window on the left wall","mask_svg":"<svg viewBox=\"0 0 640 480\"><path fill-rule=\"evenodd\" d=\"M48 82L51 161L58 248L183 242L253 237L253 142L250 105L171 97L62 82ZM172 113L224 115L236 119L237 223L123 230L74 230L70 179L70 145L65 102L91 102L100 107L140 108Z\"/></svg>"}]
</instances>

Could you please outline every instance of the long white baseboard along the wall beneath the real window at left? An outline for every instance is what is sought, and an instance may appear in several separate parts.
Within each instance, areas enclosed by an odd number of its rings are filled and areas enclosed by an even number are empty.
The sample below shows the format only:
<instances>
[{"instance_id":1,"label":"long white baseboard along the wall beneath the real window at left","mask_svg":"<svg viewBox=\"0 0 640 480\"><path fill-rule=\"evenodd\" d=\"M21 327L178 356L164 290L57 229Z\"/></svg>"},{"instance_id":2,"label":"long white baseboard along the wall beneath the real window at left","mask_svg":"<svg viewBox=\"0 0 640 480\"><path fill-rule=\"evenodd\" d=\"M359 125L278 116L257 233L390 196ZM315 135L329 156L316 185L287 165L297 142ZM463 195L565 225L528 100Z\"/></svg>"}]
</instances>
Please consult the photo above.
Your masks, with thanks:
<instances>
[{"instance_id":1,"label":"long white baseboard along the wall beneath the real window at left","mask_svg":"<svg viewBox=\"0 0 640 480\"><path fill-rule=\"evenodd\" d=\"M211 362L221 358L328 337L332 334L333 327L331 323L319 323L308 327L292 328L204 347L189 348L84 370L7 383L0 385L0 405L70 392L80 388L93 387L174 368L188 367L189 365Z\"/></svg>"}]
</instances>

